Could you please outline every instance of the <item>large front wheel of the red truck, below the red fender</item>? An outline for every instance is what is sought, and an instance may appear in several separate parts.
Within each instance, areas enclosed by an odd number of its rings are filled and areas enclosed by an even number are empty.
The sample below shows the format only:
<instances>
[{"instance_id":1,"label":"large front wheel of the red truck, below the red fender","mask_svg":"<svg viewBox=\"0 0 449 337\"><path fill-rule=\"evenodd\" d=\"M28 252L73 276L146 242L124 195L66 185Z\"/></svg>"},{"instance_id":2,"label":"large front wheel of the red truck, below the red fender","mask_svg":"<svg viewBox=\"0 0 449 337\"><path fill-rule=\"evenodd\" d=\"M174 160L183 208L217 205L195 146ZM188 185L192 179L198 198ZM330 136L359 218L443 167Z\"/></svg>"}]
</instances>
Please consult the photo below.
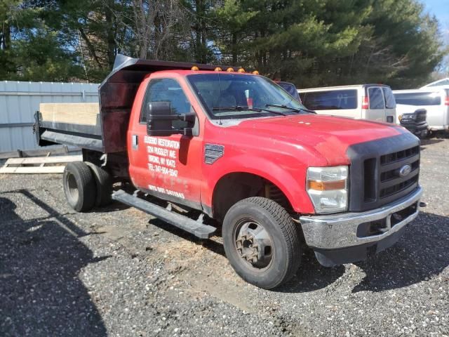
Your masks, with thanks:
<instances>
[{"instance_id":1,"label":"large front wheel of the red truck, below the red fender","mask_svg":"<svg viewBox=\"0 0 449 337\"><path fill-rule=\"evenodd\" d=\"M297 227L275 201L251 197L237 202L226 213L222 232L232 267L255 286L280 286L300 266L302 247Z\"/></svg>"}]
</instances>

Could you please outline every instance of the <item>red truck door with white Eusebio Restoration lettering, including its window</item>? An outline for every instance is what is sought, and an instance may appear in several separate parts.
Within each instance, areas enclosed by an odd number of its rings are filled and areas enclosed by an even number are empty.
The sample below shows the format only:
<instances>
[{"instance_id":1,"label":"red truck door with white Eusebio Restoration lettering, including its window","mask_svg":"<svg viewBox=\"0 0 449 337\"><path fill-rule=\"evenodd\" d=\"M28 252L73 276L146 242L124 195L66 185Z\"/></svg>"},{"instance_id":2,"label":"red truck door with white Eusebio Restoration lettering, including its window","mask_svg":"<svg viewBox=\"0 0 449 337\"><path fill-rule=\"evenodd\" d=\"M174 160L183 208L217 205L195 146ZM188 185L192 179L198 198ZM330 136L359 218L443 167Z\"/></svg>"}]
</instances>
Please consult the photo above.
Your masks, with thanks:
<instances>
[{"instance_id":1,"label":"red truck door with white Eusebio Restoration lettering, including its window","mask_svg":"<svg viewBox=\"0 0 449 337\"><path fill-rule=\"evenodd\" d=\"M130 130L130 175L140 190L194 208L201 207L201 149L198 136L148 136L147 107L168 102L173 114L192 112L187 95L175 79L151 79L145 91L139 123ZM198 119L196 121L198 123ZM174 128L186 121L173 121Z\"/></svg>"}]
</instances>

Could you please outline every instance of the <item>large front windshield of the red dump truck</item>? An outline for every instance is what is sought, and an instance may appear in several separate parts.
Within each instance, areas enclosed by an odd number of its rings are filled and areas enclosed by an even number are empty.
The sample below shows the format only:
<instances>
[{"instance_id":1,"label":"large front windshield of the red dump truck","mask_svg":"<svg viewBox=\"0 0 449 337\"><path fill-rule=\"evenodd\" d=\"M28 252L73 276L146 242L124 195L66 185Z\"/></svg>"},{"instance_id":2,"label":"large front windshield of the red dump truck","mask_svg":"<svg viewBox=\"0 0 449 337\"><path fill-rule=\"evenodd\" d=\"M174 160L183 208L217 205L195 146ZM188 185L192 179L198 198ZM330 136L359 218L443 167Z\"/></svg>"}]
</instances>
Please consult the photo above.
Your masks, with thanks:
<instances>
[{"instance_id":1,"label":"large front windshield of the red dump truck","mask_svg":"<svg viewBox=\"0 0 449 337\"><path fill-rule=\"evenodd\" d=\"M211 119L297 114L305 109L266 77L216 73L189 75L187 79Z\"/></svg>"}]
</instances>

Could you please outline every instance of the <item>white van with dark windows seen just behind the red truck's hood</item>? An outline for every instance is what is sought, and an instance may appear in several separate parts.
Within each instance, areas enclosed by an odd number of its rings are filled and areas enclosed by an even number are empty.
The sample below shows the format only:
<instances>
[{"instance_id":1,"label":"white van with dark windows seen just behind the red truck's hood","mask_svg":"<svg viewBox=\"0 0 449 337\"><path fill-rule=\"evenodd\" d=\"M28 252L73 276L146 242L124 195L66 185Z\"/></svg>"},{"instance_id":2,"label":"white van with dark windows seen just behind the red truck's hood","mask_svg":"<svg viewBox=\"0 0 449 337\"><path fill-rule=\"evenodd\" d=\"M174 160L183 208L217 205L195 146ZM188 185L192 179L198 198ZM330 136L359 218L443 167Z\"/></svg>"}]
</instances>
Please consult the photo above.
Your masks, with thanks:
<instances>
[{"instance_id":1,"label":"white van with dark windows seen just behind the red truck's hood","mask_svg":"<svg viewBox=\"0 0 449 337\"><path fill-rule=\"evenodd\" d=\"M302 104L318 114L396 123L396 102L389 86L361 84L299 89Z\"/></svg>"}]
</instances>

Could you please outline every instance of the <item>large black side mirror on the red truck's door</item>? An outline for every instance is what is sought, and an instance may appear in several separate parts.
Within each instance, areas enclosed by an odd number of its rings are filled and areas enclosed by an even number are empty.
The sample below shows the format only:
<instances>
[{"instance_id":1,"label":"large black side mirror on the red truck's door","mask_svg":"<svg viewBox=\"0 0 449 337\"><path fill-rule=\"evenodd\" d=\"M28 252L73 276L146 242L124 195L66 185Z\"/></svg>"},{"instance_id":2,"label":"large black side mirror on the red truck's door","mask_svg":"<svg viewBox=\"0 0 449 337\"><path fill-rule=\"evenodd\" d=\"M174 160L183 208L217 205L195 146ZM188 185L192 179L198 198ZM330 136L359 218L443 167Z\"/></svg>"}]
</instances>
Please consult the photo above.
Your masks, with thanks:
<instances>
[{"instance_id":1,"label":"large black side mirror on the red truck's door","mask_svg":"<svg viewBox=\"0 0 449 337\"><path fill-rule=\"evenodd\" d=\"M187 127L174 128L173 121L187 121ZM180 133L193 136L196 114L173 114L170 102L150 102L147 105L147 133L148 136L170 136Z\"/></svg>"}]
</instances>

